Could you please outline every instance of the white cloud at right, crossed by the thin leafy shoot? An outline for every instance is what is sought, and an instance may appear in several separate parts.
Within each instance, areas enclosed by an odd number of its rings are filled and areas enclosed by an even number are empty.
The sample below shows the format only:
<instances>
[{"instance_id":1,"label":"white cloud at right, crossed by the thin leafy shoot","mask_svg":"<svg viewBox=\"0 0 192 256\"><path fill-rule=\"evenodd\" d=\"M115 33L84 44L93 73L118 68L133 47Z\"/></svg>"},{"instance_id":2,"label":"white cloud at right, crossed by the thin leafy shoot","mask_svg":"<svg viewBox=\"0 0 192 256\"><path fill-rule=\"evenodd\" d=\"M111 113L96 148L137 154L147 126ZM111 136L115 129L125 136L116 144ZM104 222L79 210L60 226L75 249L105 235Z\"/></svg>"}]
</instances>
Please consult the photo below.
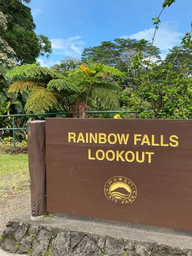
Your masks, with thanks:
<instances>
[{"instance_id":1,"label":"white cloud at right, crossed by the thin leafy shoot","mask_svg":"<svg viewBox=\"0 0 192 256\"><path fill-rule=\"evenodd\" d=\"M123 35L121 38L130 38L140 40L142 38L152 41L155 28L144 29L135 34ZM165 58L168 49L174 45L178 45L181 42L181 36L183 34L177 32L177 28L173 22L161 23L158 31L155 34L154 46L160 48L163 53L161 54L162 59Z\"/></svg>"}]
</instances>

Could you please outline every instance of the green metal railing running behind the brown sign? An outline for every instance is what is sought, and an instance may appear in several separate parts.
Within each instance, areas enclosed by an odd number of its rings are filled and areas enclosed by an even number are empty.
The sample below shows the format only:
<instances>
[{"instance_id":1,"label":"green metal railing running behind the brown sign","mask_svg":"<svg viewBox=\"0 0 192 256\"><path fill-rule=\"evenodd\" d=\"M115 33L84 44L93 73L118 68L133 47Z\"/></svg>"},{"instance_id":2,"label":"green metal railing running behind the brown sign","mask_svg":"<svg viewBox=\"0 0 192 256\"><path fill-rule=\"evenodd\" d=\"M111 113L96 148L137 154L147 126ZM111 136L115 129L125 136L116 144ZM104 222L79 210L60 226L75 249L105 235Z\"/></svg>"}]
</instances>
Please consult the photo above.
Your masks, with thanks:
<instances>
[{"instance_id":1,"label":"green metal railing running behind the brown sign","mask_svg":"<svg viewBox=\"0 0 192 256\"><path fill-rule=\"evenodd\" d=\"M129 113L136 114L137 112L120 110L120 111L85 111L87 114L118 114L118 113ZM13 117L12 128L0 128L0 131L13 131L13 148L16 147L15 131L16 130L27 130L27 127L15 128L15 117L35 117L35 116L52 116L52 115L64 115L73 114L73 112L55 112L55 113L44 113L44 114L14 114L14 115L0 115L0 117Z\"/></svg>"}]
</instances>

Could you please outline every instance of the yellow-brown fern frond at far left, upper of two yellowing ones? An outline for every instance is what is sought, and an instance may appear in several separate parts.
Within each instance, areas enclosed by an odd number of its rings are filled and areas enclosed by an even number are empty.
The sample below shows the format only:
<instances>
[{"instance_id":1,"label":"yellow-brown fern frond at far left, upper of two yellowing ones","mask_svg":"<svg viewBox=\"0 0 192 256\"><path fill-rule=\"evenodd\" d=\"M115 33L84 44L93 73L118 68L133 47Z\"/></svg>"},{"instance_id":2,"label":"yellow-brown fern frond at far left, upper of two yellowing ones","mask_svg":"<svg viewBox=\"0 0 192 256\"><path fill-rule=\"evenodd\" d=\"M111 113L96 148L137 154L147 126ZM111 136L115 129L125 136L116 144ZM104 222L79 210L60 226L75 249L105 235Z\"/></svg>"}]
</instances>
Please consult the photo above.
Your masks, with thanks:
<instances>
[{"instance_id":1,"label":"yellow-brown fern frond at far left, upper of two yellowing ones","mask_svg":"<svg viewBox=\"0 0 192 256\"><path fill-rule=\"evenodd\" d=\"M24 80L24 81L15 81L7 91L8 93L21 93L27 89L31 90L33 87L43 85L35 81Z\"/></svg>"}]
</instances>

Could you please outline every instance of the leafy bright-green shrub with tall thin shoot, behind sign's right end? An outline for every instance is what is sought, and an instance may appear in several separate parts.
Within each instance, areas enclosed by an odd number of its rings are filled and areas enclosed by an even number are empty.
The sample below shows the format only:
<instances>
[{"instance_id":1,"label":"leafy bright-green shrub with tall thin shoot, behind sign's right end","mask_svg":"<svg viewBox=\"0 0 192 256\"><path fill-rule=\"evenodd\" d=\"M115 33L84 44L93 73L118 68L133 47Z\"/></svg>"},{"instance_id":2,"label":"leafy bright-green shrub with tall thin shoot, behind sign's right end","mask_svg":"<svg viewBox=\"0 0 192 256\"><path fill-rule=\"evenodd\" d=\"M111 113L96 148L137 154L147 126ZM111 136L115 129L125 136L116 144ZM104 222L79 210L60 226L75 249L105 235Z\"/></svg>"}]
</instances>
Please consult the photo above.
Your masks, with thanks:
<instances>
[{"instance_id":1,"label":"leafy bright-green shrub with tall thin shoot, behind sign's right end","mask_svg":"<svg viewBox=\"0 0 192 256\"><path fill-rule=\"evenodd\" d=\"M175 1L164 1L162 11L173 2ZM157 18L152 19L155 25L154 36L161 23L159 19L161 13ZM151 55L149 56L145 63L146 73L135 77L136 86L127 87L121 97L124 102L123 109L129 109L137 114L120 114L121 117L192 118L191 32L192 24L191 31L182 38L181 45L173 48L176 52L173 54L171 50L161 65L152 62ZM139 52L139 56L141 54ZM182 58L178 60L177 58L181 56ZM134 57L132 62L133 69L137 72L142 62L138 62Z\"/></svg>"}]
</instances>

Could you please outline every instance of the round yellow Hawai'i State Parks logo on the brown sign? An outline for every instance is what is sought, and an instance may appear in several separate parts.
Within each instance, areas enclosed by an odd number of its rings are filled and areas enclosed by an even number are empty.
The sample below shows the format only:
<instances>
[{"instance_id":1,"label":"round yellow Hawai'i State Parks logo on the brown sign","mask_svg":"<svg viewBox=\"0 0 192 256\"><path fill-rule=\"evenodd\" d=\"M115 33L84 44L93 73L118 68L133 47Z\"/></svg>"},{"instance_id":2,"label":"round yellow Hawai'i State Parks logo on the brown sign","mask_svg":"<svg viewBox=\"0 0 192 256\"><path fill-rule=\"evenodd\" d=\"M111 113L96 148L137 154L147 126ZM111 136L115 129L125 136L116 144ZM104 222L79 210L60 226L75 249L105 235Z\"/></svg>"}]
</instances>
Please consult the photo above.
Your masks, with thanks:
<instances>
[{"instance_id":1,"label":"round yellow Hawai'i State Parks logo on the brown sign","mask_svg":"<svg viewBox=\"0 0 192 256\"><path fill-rule=\"evenodd\" d=\"M110 178L104 187L104 192L110 202L118 205L133 203L137 197L137 188L128 178L116 176Z\"/></svg>"}]
</instances>

